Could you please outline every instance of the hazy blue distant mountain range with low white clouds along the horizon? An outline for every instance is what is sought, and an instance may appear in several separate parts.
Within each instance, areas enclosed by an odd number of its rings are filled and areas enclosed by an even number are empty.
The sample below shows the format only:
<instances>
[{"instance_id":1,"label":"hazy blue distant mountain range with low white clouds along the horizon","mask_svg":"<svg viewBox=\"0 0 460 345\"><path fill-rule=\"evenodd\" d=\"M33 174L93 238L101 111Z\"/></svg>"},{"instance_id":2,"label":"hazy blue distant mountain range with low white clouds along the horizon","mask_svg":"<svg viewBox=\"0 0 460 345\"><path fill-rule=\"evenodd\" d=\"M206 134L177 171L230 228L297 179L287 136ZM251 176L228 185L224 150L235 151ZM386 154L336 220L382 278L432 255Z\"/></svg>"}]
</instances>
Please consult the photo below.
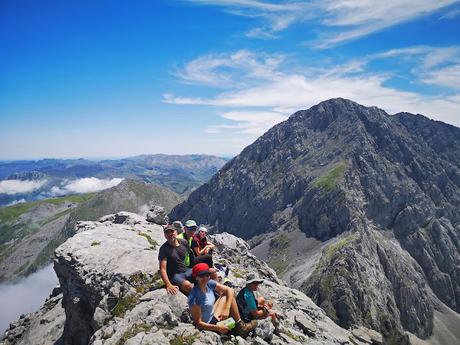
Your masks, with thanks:
<instances>
[{"instance_id":1,"label":"hazy blue distant mountain range with low white clouds along the horizon","mask_svg":"<svg viewBox=\"0 0 460 345\"><path fill-rule=\"evenodd\" d=\"M42 159L0 162L0 207L95 192L123 178L140 179L187 195L226 159L207 155L141 155L119 160Z\"/></svg>"}]
</instances>

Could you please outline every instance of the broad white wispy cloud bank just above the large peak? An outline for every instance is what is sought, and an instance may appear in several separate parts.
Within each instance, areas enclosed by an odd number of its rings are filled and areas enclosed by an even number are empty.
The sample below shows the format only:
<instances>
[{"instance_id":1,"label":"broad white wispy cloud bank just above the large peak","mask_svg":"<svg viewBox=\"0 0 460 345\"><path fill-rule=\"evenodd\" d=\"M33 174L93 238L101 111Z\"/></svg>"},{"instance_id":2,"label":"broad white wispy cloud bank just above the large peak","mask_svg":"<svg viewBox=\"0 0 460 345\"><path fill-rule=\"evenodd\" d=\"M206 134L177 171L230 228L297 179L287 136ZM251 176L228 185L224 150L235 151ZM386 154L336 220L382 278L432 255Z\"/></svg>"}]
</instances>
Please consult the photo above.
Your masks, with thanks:
<instances>
[{"instance_id":1,"label":"broad white wispy cloud bank just above the large peak","mask_svg":"<svg viewBox=\"0 0 460 345\"><path fill-rule=\"evenodd\" d=\"M166 94L164 101L216 107L224 123L208 127L208 133L234 131L260 135L294 111L334 97L383 107L389 113L423 113L460 126L460 94L455 91L459 80L456 62L458 49L408 47L369 55L332 68L307 67L295 71L285 67L283 59L278 59L277 63L266 68L265 61L270 60L267 54L259 56L250 51L244 51L244 54L220 54L215 56L219 60L218 65L225 65L230 70L220 72L218 67L210 68L209 75L213 75L215 80L235 79L239 83L229 83L225 90L220 90L212 97ZM234 55L242 56L238 64L231 64ZM412 63L414 75L418 75L414 82L450 87L450 93L436 97L390 87L388 81L393 77L392 74L371 72L367 68L368 64L377 59L407 59ZM207 66L217 66L212 63L212 56L206 56L205 60ZM191 64L196 61L204 60L199 58ZM248 65L262 72L250 74L246 69ZM232 77L228 78L229 75Z\"/></svg>"}]
</instances>

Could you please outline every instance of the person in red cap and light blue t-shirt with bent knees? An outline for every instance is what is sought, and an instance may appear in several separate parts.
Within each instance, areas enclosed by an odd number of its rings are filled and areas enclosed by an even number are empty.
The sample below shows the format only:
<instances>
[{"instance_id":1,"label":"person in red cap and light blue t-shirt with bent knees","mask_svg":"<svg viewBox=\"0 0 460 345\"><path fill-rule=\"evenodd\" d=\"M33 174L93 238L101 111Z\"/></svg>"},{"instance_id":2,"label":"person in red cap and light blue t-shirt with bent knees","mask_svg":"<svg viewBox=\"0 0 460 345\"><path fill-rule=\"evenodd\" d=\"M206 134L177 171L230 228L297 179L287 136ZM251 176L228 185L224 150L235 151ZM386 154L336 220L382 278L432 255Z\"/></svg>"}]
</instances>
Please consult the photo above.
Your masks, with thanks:
<instances>
[{"instance_id":1,"label":"person in red cap and light blue t-shirt with bent knees","mask_svg":"<svg viewBox=\"0 0 460 345\"><path fill-rule=\"evenodd\" d=\"M241 320L233 290L211 280L209 266L197 264L192 269L196 284L188 296L188 304L194 325L200 330L215 331L226 334L230 328L218 324L230 316L236 320L234 333L246 337L257 326L257 321L245 323ZM216 298L217 296L221 296Z\"/></svg>"}]
</instances>

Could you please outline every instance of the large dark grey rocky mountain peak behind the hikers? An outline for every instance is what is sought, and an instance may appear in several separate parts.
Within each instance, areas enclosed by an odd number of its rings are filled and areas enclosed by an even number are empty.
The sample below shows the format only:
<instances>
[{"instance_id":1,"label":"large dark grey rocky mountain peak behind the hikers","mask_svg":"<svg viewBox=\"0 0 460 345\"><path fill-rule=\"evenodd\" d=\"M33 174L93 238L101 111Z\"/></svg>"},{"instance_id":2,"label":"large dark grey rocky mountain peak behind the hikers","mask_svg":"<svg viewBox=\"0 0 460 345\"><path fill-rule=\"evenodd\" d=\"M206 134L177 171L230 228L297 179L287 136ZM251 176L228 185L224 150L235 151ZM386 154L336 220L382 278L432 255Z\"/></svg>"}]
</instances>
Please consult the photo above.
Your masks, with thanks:
<instances>
[{"instance_id":1,"label":"large dark grey rocky mountain peak behind the hikers","mask_svg":"<svg viewBox=\"0 0 460 345\"><path fill-rule=\"evenodd\" d=\"M274 126L170 217L250 239L342 327L460 342L459 128L331 99Z\"/></svg>"}]
</instances>

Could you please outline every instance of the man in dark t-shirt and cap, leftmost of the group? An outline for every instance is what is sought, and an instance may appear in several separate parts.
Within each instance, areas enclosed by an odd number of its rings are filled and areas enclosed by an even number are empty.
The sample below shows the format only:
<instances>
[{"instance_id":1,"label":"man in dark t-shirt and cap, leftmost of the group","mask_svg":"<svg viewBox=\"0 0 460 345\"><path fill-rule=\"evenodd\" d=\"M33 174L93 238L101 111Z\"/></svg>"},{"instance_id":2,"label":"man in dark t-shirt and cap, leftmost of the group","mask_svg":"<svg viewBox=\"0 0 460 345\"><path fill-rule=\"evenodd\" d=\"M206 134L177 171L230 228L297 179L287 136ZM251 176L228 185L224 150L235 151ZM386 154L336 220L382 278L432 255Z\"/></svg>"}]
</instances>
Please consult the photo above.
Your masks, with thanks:
<instances>
[{"instance_id":1,"label":"man in dark t-shirt and cap, leftmost of the group","mask_svg":"<svg viewBox=\"0 0 460 345\"><path fill-rule=\"evenodd\" d=\"M168 294L175 295L180 290L188 295L193 288L192 269L185 264L185 258L190 252L188 242L177 238L177 230L173 226L164 228L166 242L160 247L158 261L160 263L161 279L166 285Z\"/></svg>"}]
</instances>

